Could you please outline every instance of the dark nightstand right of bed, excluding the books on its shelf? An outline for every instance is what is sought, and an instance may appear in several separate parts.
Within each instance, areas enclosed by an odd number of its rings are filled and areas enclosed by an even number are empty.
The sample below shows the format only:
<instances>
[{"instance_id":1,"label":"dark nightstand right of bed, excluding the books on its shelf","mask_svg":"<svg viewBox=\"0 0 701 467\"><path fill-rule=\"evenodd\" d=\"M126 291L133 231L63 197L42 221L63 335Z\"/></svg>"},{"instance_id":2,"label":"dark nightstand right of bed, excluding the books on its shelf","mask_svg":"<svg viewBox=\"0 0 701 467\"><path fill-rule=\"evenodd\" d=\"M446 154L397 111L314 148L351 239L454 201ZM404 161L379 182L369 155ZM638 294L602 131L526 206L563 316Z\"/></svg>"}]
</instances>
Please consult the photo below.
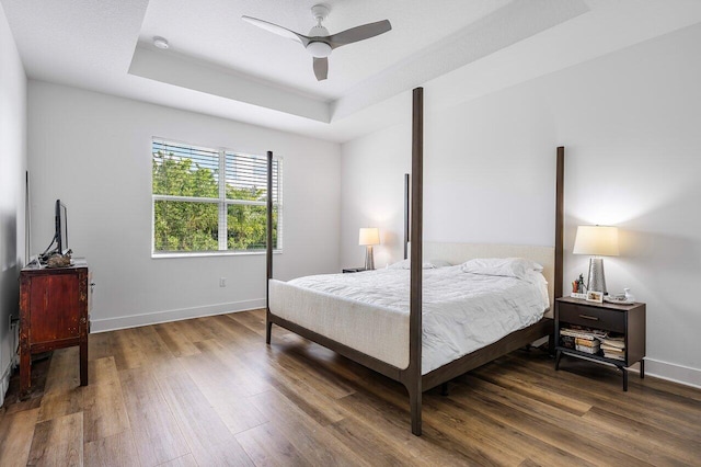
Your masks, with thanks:
<instances>
[{"instance_id":1,"label":"dark nightstand right of bed, excluding the books on its shelf","mask_svg":"<svg viewBox=\"0 0 701 467\"><path fill-rule=\"evenodd\" d=\"M591 331L606 331L622 338L620 357L605 356L597 353L582 352L565 346L560 330L574 327L588 328ZM555 371L560 367L562 354L567 354L595 362L616 365L623 373L623 390L628 390L628 367L640 362L640 377L645 377L645 304L618 305L587 301L563 297L555 299Z\"/></svg>"}]
</instances>

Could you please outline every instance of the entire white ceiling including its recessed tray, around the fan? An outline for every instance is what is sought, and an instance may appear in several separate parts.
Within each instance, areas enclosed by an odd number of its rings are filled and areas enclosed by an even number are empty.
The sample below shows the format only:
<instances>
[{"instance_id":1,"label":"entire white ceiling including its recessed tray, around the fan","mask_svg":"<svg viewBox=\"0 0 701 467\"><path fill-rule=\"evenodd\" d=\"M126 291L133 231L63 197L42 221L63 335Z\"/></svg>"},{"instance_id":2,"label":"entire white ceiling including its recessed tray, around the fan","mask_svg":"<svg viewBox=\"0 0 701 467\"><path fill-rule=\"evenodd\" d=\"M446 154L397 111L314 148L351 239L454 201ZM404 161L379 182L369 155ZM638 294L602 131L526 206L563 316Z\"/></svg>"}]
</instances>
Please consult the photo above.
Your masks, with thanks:
<instances>
[{"instance_id":1,"label":"entire white ceiling including its recessed tray, around the fan","mask_svg":"<svg viewBox=\"0 0 701 467\"><path fill-rule=\"evenodd\" d=\"M699 0L325 0L335 49L317 81L297 43L321 0L0 0L27 76L345 141L409 118L409 92L455 105L701 21ZM171 45L161 50L153 36Z\"/></svg>"}]
</instances>

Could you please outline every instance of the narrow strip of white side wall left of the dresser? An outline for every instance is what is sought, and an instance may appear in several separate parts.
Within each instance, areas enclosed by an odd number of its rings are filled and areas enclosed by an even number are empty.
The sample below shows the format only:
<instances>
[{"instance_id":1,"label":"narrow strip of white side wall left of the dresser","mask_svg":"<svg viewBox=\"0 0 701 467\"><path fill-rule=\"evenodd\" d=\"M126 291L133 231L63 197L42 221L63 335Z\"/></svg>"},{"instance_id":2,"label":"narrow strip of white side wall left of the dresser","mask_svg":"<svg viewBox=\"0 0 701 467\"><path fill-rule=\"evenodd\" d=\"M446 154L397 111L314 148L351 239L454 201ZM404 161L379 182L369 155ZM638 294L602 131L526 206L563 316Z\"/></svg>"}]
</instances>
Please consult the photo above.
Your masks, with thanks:
<instances>
[{"instance_id":1,"label":"narrow strip of white side wall left of the dresser","mask_svg":"<svg viewBox=\"0 0 701 467\"><path fill-rule=\"evenodd\" d=\"M26 170L26 76L0 5L0 406L10 381L19 316L20 269L24 265Z\"/></svg>"}]
</instances>

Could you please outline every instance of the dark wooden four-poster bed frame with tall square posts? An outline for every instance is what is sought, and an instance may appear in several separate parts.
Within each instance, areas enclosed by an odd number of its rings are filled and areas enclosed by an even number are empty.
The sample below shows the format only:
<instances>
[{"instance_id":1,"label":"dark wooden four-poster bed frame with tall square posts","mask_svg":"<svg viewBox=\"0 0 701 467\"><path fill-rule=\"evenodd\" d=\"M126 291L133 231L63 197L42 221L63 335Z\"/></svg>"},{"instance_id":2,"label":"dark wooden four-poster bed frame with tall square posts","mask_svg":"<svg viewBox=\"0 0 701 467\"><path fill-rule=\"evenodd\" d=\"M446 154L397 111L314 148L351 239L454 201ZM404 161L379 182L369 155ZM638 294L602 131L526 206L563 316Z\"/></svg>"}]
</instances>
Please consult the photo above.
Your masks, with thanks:
<instances>
[{"instance_id":1,"label":"dark wooden four-poster bed frame with tall square posts","mask_svg":"<svg viewBox=\"0 0 701 467\"><path fill-rule=\"evenodd\" d=\"M543 337L550 338L553 344L553 321L542 318L528 328L512 332L501 340L467 354L456 361L443 365L433 372L422 375L422 259L423 259L423 88L413 91L413 145L412 145L412 179L411 179L411 288L410 288L410 327L409 327L409 366L398 368L378 358L364 354L355 349L321 335L295 322L283 319L266 308L265 342L271 343L273 324L288 329L302 338L331 349L389 378L402 383L409 391L411 407L412 433L422 433L422 394L428 389L447 383L485 363L524 348ZM273 193L273 152L267 152L268 181L267 192ZM558 148L556 156L556 189L555 189L555 251L554 251L554 297L562 296L563 286L563 226L564 226L564 147ZM266 298L269 303L269 280L273 278L273 200L267 198L267 282ZM406 238L406 236L405 236ZM446 386L444 386L445 388Z\"/></svg>"}]
</instances>

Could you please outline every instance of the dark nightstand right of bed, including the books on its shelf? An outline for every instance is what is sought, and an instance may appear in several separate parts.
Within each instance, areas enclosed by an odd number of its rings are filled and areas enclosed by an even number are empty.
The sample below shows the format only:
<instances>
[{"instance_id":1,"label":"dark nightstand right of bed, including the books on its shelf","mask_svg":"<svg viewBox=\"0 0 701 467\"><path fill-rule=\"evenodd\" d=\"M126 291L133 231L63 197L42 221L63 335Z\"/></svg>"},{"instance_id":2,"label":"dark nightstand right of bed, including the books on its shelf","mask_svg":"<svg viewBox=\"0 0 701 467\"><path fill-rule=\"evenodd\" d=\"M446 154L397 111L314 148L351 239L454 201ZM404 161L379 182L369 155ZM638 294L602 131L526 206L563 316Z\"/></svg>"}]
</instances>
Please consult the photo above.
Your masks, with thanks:
<instances>
[{"instance_id":1,"label":"dark nightstand right of bed, including the books on its shelf","mask_svg":"<svg viewBox=\"0 0 701 467\"><path fill-rule=\"evenodd\" d=\"M556 298L555 338L555 371L564 353L614 365L623 373L624 391L632 364L640 362L640 377L645 377L645 304Z\"/></svg>"}]
</instances>

